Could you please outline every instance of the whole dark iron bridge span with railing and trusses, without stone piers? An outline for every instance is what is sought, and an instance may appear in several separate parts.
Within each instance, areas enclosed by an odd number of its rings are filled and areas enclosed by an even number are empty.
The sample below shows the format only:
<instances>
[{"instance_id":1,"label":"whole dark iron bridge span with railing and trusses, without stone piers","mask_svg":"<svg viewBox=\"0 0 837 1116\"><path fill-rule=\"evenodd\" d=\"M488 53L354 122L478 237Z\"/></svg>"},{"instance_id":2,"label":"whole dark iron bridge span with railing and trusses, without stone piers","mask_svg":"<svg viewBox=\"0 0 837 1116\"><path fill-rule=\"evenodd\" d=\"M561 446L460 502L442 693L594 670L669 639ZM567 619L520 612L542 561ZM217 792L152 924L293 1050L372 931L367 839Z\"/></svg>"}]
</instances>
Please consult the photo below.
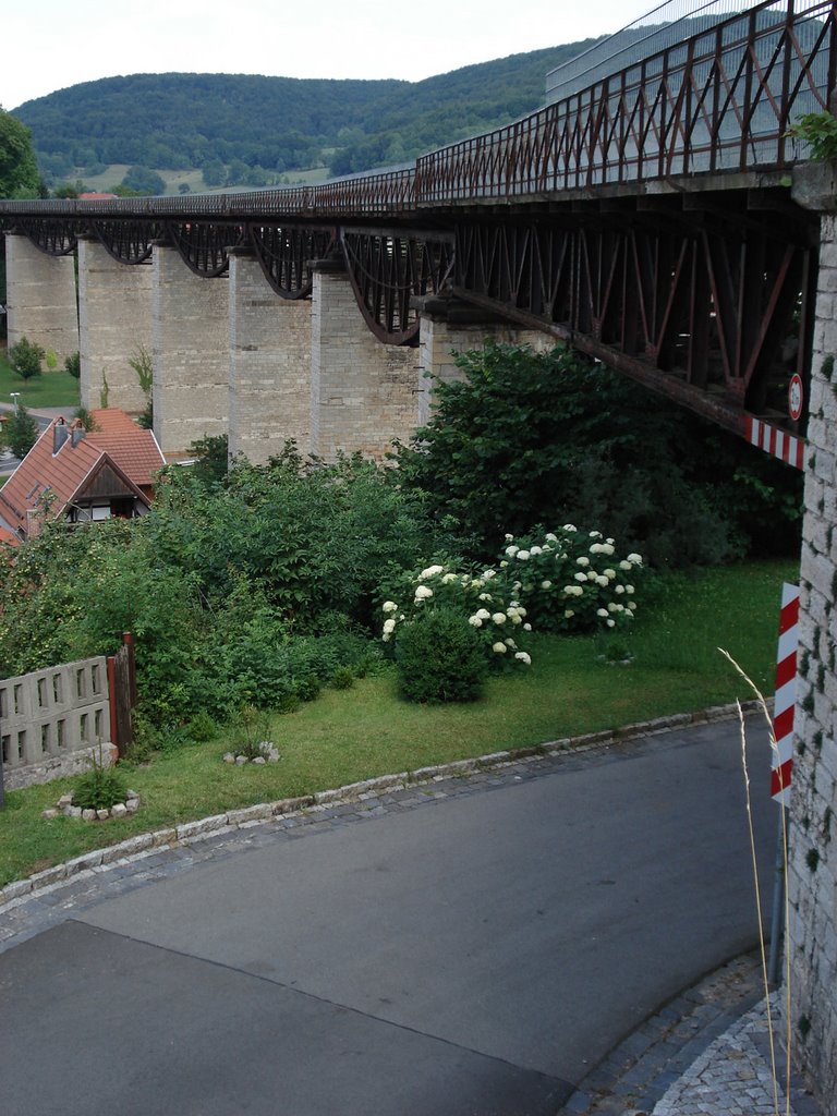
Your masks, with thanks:
<instances>
[{"instance_id":1,"label":"whole dark iron bridge span with railing and trusses, without stone piers","mask_svg":"<svg viewBox=\"0 0 837 1116\"><path fill-rule=\"evenodd\" d=\"M341 259L384 343L426 306L541 329L728 430L804 433L819 217L791 200L790 129L834 108L831 0L768 0L410 170L321 186L0 202L52 254L97 238L126 264L174 246L208 278L250 246L282 298ZM451 311L454 316L456 309ZM804 420L801 421L804 426Z\"/></svg>"}]
</instances>

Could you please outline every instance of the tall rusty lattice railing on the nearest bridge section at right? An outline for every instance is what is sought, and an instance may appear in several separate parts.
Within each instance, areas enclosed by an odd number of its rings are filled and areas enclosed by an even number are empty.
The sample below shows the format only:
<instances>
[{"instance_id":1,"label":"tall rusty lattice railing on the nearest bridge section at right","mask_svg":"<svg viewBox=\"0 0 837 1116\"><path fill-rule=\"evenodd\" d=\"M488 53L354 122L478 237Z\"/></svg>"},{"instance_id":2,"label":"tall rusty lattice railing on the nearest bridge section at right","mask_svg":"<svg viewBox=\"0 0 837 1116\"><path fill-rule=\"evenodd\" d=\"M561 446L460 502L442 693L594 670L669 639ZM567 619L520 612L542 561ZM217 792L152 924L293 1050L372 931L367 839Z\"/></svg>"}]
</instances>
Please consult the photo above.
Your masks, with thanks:
<instances>
[{"instance_id":1,"label":"tall rusty lattice railing on the nearest bridge section at right","mask_svg":"<svg viewBox=\"0 0 837 1116\"><path fill-rule=\"evenodd\" d=\"M802 8L804 10L799 10ZM835 88L833 0L761 3L494 132L422 156L420 205L782 166Z\"/></svg>"}]
</instances>

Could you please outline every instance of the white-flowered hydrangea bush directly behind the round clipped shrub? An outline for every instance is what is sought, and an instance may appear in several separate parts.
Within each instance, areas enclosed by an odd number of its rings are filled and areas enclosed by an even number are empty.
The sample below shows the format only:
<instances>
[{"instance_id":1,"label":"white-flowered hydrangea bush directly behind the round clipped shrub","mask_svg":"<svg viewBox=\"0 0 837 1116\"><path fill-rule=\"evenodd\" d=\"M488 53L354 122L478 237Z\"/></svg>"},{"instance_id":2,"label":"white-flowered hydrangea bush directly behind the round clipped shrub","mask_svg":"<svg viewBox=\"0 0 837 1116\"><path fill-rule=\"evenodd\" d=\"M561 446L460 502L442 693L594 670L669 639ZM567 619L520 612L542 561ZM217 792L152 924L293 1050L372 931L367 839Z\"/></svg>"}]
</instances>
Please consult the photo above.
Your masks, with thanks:
<instances>
[{"instance_id":1,"label":"white-flowered hydrangea bush directly behind the round clipped shrub","mask_svg":"<svg viewBox=\"0 0 837 1116\"><path fill-rule=\"evenodd\" d=\"M519 646L531 632L527 609L510 598L507 579L496 569L461 573L450 565L433 565L406 574L394 590L397 600L386 600L382 638L400 641L416 619L437 609L453 609L478 636L487 661L494 667L529 666L528 652ZM396 653L397 661L397 653Z\"/></svg>"}]
</instances>

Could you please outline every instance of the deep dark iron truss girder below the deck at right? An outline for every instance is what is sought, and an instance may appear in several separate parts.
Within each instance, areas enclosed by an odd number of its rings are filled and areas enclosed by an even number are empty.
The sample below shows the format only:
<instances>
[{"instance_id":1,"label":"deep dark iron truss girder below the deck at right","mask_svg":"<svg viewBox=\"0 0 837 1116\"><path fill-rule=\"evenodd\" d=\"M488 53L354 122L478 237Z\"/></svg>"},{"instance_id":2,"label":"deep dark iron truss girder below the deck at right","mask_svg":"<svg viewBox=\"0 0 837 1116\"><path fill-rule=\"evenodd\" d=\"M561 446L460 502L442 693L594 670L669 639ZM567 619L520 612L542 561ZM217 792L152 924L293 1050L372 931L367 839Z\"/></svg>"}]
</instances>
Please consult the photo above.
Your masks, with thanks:
<instances>
[{"instance_id":1,"label":"deep dark iron truss girder below the deck at right","mask_svg":"<svg viewBox=\"0 0 837 1116\"><path fill-rule=\"evenodd\" d=\"M740 202L740 199L738 200ZM456 225L456 297L552 334L742 434L752 415L801 436L816 218L590 208Z\"/></svg>"}]
</instances>

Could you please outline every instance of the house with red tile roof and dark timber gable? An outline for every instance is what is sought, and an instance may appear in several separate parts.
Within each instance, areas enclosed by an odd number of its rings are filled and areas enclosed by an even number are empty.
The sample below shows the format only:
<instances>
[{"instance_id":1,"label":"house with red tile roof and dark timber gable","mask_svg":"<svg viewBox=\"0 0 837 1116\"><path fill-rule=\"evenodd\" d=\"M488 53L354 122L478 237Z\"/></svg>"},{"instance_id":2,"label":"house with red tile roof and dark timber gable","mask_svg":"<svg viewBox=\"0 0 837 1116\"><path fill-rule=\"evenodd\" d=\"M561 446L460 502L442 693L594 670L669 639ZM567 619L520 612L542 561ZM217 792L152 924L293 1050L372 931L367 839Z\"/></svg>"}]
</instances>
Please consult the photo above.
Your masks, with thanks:
<instances>
[{"instance_id":1,"label":"house with red tile roof and dark timber gable","mask_svg":"<svg viewBox=\"0 0 837 1116\"><path fill-rule=\"evenodd\" d=\"M37 535L47 519L133 519L151 507L165 459L154 433L116 407L92 412L94 429L54 419L0 489L0 530Z\"/></svg>"}]
</instances>

